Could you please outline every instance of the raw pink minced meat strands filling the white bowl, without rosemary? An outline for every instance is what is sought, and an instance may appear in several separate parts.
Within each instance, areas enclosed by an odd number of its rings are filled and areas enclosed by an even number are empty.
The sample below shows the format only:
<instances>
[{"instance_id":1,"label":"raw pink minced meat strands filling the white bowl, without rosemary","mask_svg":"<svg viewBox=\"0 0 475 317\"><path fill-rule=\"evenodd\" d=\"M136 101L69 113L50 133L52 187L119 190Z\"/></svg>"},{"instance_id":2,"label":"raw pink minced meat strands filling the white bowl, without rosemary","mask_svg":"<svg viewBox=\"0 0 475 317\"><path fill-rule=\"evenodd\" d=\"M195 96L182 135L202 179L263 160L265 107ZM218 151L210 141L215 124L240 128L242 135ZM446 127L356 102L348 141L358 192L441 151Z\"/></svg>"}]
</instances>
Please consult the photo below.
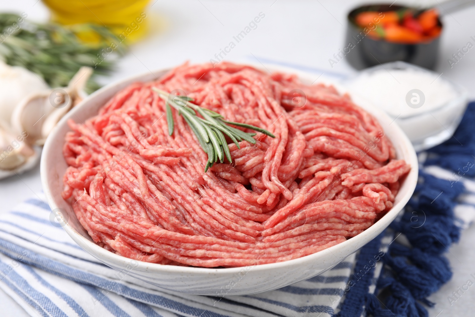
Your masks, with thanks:
<instances>
[{"instance_id":1,"label":"raw pink minced meat strands filling the white bowl, without rosemary","mask_svg":"<svg viewBox=\"0 0 475 317\"><path fill-rule=\"evenodd\" d=\"M152 87L180 89L276 137L258 133L257 144L240 149L227 139L233 162L204 173L197 138L175 109L168 134ZM390 210L410 169L349 96L232 63L184 64L128 86L84 124L68 124L63 198L97 244L161 264L237 267L326 249Z\"/></svg>"}]
</instances>

